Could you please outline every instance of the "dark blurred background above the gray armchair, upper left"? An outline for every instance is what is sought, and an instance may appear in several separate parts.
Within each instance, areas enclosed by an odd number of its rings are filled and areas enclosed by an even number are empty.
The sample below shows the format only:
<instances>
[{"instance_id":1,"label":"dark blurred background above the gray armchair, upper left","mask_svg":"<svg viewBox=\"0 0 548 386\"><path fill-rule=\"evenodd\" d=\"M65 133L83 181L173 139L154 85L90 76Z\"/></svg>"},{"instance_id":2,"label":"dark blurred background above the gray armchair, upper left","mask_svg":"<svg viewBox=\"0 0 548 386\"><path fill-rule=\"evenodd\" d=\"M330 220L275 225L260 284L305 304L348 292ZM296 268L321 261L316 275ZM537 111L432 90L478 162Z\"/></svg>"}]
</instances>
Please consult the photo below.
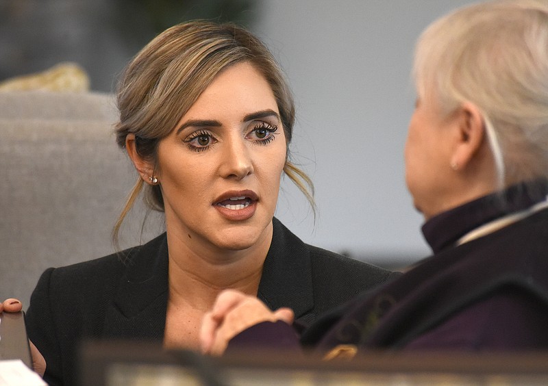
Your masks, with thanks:
<instances>
[{"instance_id":1,"label":"dark blurred background above the gray armchair, upper left","mask_svg":"<svg viewBox=\"0 0 548 386\"><path fill-rule=\"evenodd\" d=\"M125 63L164 29L192 18L249 26L253 0L0 0L0 79L59 62L109 92Z\"/></svg>"}]
</instances>

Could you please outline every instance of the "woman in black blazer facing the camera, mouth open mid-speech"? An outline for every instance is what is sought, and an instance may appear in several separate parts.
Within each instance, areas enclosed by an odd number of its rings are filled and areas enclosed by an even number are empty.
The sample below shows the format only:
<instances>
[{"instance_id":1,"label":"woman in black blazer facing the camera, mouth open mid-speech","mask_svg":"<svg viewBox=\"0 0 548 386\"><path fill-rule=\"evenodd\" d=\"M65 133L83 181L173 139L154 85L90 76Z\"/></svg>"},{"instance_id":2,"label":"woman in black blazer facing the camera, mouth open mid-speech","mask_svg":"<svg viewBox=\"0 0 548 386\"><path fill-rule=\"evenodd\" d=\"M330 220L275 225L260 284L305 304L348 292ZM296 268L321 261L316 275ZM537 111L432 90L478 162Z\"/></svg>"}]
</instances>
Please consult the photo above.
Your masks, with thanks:
<instances>
[{"instance_id":1,"label":"woman in black blazer facing the camera, mouth open mid-speech","mask_svg":"<svg viewBox=\"0 0 548 386\"><path fill-rule=\"evenodd\" d=\"M164 31L127 66L118 107L117 142L138 181L115 233L142 190L166 233L42 274L26 320L50 385L75 382L86 338L197 350L222 289L291 307L306 325L392 274L305 244L273 217L282 175L313 204L311 184L289 161L288 85L245 29L194 21Z\"/></svg>"}]
</instances>

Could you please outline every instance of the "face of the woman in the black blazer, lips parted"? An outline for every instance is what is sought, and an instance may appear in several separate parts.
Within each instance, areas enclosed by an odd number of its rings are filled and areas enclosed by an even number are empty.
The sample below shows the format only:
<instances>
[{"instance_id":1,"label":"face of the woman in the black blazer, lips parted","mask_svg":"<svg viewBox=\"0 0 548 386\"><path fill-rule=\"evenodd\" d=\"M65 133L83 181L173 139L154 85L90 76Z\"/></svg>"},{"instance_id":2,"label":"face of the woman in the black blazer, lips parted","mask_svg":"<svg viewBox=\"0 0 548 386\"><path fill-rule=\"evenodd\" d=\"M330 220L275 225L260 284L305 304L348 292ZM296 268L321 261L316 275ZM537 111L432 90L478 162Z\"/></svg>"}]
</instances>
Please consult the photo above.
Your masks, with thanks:
<instances>
[{"instance_id":1,"label":"face of the woman in the black blazer, lips parted","mask_svg":"<svg viewBox=\"0 0 548 386\"><path fill-rule=\"evenodd\" d=\"M224 250L270 243L285 161L269 83L247 62L230 66L160 141L168 231Z\"/></svg>"}]
</instances>

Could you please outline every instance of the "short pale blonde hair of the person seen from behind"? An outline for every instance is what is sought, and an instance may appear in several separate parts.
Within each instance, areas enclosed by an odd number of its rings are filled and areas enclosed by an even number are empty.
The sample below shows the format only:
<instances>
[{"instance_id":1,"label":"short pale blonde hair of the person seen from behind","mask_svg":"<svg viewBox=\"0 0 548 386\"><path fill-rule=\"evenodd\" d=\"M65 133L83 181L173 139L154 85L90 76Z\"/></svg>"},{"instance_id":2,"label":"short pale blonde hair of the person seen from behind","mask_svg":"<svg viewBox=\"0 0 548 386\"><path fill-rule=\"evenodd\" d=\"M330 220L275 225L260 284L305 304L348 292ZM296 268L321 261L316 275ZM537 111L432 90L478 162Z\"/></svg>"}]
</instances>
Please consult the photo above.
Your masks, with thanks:
<instances>
[{"instance_id":1,"label":"short pale blonde hair of the person seen from behind","mask_svg":"<svg viewBox=\"0 0 548 386\"><path fill-rule=\"evenodd\" d=\"M416 45L419 99L479 107L499 188L548 177L548 2L490 1L429 25Z\"/></svg>"}]
</instances>

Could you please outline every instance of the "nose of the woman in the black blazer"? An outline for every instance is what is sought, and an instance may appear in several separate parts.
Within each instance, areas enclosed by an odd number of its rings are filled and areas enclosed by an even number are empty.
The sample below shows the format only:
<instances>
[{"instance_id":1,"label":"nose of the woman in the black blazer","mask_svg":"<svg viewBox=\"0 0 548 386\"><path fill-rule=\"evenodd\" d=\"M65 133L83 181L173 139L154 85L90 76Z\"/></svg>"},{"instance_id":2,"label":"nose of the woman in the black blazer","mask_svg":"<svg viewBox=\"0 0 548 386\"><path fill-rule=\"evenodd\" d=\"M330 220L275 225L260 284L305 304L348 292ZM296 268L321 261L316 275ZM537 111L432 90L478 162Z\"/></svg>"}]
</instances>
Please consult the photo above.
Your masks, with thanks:
<instances>
[{"instance_id":1,"label":"nose of the woman in the black blazer","mask_svg":"<svg viewBox=\"0 0 548 386\"><path fill-rule=\"evenodd\" d=\"M223 159L220 172L224 178L244 179L253 173L251 149L245 143L245 138L235 136L224 142Z\"/></svg>"}]
</instances>

